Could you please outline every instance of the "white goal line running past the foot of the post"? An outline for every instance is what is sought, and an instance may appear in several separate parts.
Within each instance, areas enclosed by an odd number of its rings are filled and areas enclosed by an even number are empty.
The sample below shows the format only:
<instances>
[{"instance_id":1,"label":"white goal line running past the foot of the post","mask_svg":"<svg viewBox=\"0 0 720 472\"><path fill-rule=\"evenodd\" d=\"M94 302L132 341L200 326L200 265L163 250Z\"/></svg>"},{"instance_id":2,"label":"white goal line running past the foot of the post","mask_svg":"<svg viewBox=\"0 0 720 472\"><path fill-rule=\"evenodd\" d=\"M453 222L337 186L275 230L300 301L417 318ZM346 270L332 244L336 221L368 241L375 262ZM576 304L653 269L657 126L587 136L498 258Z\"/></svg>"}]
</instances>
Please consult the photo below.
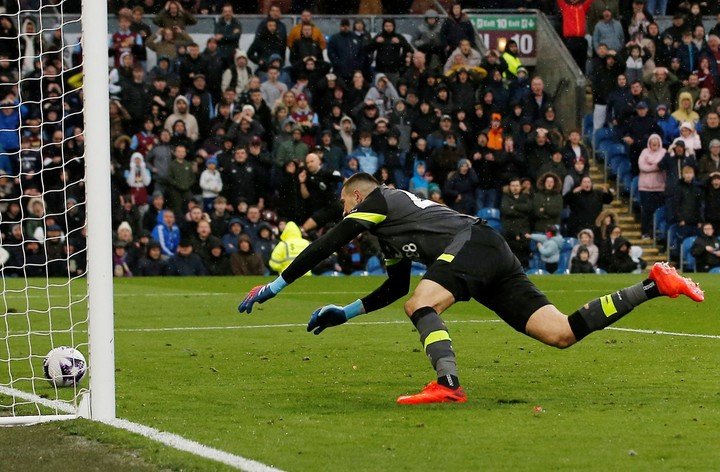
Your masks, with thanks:
<instances>
[{"instance_id":1,"label":"white goal line running past the foot of the post","mask_svg":"<svg viewBox=\"0 0 720 472\"><path fill-rule=\"evenodd\" d=\"M44 407L53 409L55 411L62 411L64 413L76 414L75 408L66 402L58 400L48 400L32 393L23 392L15 388L4 387L0 385L0 393L11 397L18 397L25 401L38 403ZM45 415L52 416L52 415ZM153 441L165 444L166 446L172 447L179 451L189 452L196 456L204 457L216 462L221 462L230 467L234 467L239 470L246 472L282 472L281 469L265 465L262 462L247 459L242 456L231 454L229 452L215 449L214 447L206 446L197 441L186 439L182 436L173 433L166 433L150 426L145 426L139 423L133 423L132 421L116 418L112 420L103 420L101 423L107 424L118 429L124 429L131 433L139 434Z\"/></svg>"}]
</instances>

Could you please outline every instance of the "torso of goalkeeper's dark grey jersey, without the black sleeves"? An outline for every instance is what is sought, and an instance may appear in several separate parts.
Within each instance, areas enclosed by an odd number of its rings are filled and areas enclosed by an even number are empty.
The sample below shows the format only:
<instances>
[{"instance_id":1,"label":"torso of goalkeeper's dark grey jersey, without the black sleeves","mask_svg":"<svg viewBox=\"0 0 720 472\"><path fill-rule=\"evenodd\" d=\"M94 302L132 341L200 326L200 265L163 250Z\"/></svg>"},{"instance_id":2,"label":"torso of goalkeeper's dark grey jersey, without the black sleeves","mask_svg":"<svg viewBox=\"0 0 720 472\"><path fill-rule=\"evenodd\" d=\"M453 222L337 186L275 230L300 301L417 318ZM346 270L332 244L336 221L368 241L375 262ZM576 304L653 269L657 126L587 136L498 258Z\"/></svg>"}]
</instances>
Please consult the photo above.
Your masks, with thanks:
<instances>
[{"instance_id":1,"label":"torso of goalkeeper's dark grey jersey, without the black sleeves","mask_svg":"<svg viewBox=\"0 0 720 472\"><path fill-rule=\"evenodd\" d=\"M454 256L461 245L450 247L452 240L464 230L469 237L470 227L478 221L385 186L374 190L345 219L359 221L377 236L388 263L406 258L427 266L443 254Z\"/></svg>"}]
</instances>

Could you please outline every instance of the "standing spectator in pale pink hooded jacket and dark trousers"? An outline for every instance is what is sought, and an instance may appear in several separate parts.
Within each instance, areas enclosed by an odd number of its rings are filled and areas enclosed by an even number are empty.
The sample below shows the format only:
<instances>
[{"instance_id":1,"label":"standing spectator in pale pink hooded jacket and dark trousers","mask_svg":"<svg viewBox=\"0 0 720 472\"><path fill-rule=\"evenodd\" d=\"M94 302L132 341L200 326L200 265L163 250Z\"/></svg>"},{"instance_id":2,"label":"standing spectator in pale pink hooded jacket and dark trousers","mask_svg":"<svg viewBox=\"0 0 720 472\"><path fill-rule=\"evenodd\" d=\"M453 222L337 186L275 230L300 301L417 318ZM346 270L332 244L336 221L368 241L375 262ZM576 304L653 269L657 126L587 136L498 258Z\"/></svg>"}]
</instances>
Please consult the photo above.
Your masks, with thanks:
<instances>
[{"instance_id":1,"label":"standing spectator in pale pink hooded jacket and dark trousers","mask_svg":"<svg viewBox=\"0 0 720 472\"><path fill-rule=\"evenodd\" d=\"M640 153L639 167L640 179L640 215L641 232L643 239L650 239L653 215L665 203L665 171L660 168L660 162L665 157L662 139L653 134L648 139L647 148Z\"/></svg>"}]
</instances>

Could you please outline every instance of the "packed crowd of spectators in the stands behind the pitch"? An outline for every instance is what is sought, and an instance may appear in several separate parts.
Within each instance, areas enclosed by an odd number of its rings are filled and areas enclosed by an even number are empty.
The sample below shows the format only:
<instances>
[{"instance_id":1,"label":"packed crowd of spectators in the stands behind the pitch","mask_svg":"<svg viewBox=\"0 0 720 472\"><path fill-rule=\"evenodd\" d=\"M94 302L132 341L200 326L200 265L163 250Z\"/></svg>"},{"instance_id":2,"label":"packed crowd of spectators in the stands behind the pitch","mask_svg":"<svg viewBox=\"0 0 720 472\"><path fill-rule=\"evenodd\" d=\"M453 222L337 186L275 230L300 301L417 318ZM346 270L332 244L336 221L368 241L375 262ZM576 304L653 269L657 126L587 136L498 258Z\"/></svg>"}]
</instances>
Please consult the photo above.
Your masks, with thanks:
<instances>
[{"instance_id":1,"label":"packed crowd of spectators in the stands behind the pitch","mask_svg":"<svg viewBox=\"0 0 720 472\"><path fill-rule=\"evenodd\" d=\"M288 28L282 2L246 11L251 3L110 2L116 276L281 272L342 217L339 186L356 172L487 218L526 267L641 266L617 215L603 210L612 194L594 188L581 132L558 122L556 97L512 40L480 53L462 11L472 2L452 4L446 18L428 9L411 37L392 17L377 34L348 18L325 34L299 1L288 2L300 14ZM638 177L643 232L666 206L683 235L702 231L694 253L708 269L720 264L720 26L706 34L698 19L717 2L671 5L672 26L660 32L648 7L663 4L517 6L561 15L592 83L593 127L624 143ZM262 8L252 44L239 49L238 13ZM186 30L205 13L216 15L214 32L199 44ZM0 29L22 33L0 39L0 260L8 274L79 275L80 54L32 17L1 15ZM565 248L562 235L577 241ZM363 235L313 272L381 271L379 252Z\"/></svg>"}]
</instances>

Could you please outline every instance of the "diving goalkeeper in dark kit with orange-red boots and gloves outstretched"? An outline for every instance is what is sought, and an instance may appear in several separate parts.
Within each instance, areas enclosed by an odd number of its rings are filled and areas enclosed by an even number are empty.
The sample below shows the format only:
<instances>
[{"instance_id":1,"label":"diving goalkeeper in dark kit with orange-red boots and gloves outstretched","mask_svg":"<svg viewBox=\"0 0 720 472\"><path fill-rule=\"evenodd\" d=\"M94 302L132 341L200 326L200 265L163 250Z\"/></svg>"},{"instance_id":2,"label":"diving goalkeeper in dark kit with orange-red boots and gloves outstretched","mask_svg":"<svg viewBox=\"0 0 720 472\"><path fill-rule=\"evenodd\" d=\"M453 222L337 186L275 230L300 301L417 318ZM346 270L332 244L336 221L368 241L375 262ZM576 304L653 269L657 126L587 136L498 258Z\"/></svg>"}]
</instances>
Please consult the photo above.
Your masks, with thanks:
<instances>
[{"instance_id":1,"label":"diving goalkeeper in dark kit with orange-red boots and gloves outstretched","mask_svg":"<svg viewBox=\"0 0 720 472\"><path fill-rule=\"evenodd\" d=\"M474 298L517 331L563 349L651 298L683 294L696 302L704 299L692 280L680 277L665 263L657 263L646 280L592 300L565 316L527 278L503 237L482 220L379 185L365 173L350 177L341 197L343 220L308 246L275 281L253 288L238 310L250 313L254 303L274 297L359 233L370 231L378 237L385 255L387 280L347 306L319 308L307 329L320 334L393 303L410 290L411 261L426 264L425 276L405 302L405 313L420 334L437 381L420 393L399 397L400 404L466 401L450 334L440 318L457 301Z\"/></svg>"}]
</instances>

